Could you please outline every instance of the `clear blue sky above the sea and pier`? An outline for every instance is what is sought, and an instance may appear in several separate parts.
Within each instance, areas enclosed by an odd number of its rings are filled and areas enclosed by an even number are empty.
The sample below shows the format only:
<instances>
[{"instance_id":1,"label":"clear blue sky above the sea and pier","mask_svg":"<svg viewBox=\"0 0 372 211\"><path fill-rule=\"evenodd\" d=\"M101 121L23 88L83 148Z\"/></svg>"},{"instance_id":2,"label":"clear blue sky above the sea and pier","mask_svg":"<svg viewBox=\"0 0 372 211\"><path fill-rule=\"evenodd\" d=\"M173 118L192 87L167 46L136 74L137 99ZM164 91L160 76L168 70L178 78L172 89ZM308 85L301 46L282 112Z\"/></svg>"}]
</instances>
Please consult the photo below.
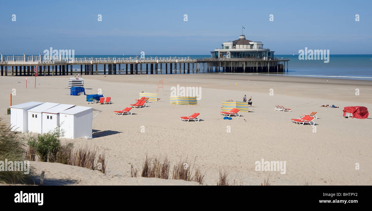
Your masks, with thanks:
<instances>
[{"instance_id":1,"label":"clear blue sky above the sea and pier","mask_svg":"<svg viewBox=\"0 0 372 211\"><path fill-rule=\"evenodd\" d=\"M0 53L35 55L52 47L75 55L208 55L238 39L244 26L247 39L277 55L305 47L372 54L371 2L2 1Z\"/></svg>"}]
</instances>

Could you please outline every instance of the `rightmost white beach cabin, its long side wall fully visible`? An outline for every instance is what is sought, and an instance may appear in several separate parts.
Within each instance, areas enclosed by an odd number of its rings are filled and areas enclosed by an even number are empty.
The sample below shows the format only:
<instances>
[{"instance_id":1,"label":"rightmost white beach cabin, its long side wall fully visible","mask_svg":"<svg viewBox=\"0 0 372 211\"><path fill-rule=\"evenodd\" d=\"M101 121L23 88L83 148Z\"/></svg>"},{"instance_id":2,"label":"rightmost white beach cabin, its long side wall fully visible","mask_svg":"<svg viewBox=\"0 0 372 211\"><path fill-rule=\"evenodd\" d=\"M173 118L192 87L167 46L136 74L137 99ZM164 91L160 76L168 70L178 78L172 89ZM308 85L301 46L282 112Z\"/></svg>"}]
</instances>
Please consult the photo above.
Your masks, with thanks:
<instances>
[{"instance_id":1,"label":"rightmost white beach cabin, its long side wall fully visible","mask_svg":"<svg viewBox=\"0 0 372 211\"><path fill-rule=\"evenodd\" d=\"M93 108L75 106L60 112L60 130L64 134L61 137L67 139L92 137Z\"/></svg>"}]
</instances>

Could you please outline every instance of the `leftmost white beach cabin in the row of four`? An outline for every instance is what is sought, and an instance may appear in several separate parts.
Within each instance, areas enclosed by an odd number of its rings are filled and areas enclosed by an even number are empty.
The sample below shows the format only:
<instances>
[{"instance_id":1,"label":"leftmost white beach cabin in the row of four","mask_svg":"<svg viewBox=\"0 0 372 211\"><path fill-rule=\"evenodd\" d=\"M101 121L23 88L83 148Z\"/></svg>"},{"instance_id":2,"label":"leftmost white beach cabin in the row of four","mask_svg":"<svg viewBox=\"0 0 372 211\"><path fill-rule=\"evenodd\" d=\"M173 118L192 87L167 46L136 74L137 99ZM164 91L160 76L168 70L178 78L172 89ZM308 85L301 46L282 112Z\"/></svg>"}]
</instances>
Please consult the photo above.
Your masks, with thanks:
<instances>
[{"instance_id":1,"label":"leftmost white beach cabin in the row of four","mask_svg":"<svg viewBox=\"0 0 372 211\"><path fill-rule=\"evenodd\" d=\"M10 106L10 126L12 131L19 131L22 133L28 132L28 113L30 108L39 106L41 102L28 102L14 106Z\"/></svg>"}]
</instances>

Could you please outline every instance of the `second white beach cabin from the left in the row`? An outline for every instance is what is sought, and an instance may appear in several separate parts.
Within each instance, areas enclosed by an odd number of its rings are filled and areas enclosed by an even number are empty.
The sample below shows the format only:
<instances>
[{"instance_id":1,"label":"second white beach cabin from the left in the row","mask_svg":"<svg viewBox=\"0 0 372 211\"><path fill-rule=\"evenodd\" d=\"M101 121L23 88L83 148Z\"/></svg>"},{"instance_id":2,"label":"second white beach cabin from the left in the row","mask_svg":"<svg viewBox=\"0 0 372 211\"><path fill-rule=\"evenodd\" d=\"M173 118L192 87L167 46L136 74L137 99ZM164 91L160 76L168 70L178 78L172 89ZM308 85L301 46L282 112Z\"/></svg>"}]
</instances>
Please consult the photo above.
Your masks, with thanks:
<instances>
[{"instance_id":1,"label":"second white beach cabin from the left in the row","mask_svg":"<svg viewBox=\"0 0 372 211\"><path fill-rule=\"evenodd\" d=\"M41 112L48 110L54 106L58 106L59 103L43 103L40 106L33 107L28 112L28 131L34 133L42 132L42 118Z\"/></svg>"}]
</instances>

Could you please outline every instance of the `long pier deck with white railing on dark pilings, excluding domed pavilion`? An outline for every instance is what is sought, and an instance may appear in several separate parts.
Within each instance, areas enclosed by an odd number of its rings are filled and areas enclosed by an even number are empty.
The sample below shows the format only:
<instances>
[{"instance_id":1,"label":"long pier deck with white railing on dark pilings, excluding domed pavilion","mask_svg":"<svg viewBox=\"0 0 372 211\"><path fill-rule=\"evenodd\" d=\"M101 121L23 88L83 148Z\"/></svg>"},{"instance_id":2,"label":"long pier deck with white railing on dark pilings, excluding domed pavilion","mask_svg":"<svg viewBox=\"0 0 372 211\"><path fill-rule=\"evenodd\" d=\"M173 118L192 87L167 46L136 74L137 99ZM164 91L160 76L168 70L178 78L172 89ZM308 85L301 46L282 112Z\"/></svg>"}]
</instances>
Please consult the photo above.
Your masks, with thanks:
<instances>
[{"instance_id":1,"label":"long pier deck with white railing on dark pilings, excluding domed pavilion","mask_svg":"<svg viewBox=\"0 0 372 211\"><path fill-rule=\"evenodd\" d=\"M63 58L59 56L3 56L1 53L1 76L34 76L35 66L40 76L98 75L98 65L103 65L104 75L137 74L195 74L200 72L267 73L288 71L289 59L266 58L203 58L151 57L151 58ZM80 65L80 71L73 71ZM121 71L124 69L124 71Z\"/></svg>"}]
</instances>

